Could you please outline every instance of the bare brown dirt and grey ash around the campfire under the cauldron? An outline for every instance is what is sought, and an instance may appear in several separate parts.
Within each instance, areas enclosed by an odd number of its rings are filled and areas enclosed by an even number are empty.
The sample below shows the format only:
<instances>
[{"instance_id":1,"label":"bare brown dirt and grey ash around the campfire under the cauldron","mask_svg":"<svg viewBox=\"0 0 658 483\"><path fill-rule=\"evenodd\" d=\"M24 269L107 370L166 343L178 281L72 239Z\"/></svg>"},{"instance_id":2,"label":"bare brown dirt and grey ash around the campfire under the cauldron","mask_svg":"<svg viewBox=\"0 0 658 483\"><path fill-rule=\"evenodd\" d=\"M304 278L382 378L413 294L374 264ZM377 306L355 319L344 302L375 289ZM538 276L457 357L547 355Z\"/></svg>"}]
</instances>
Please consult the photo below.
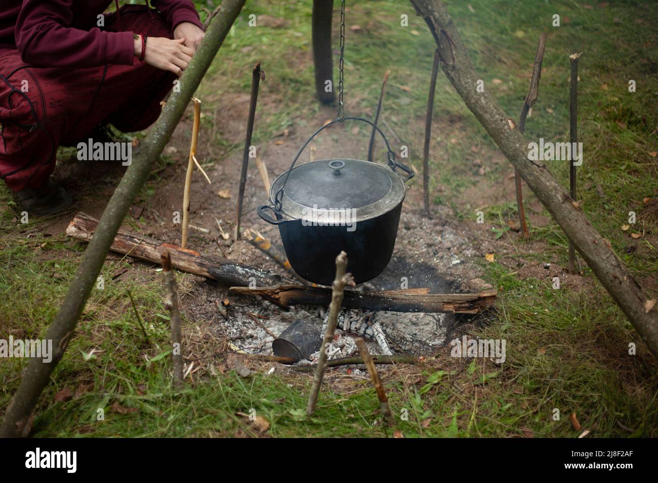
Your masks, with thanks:
<instances>
[{"instance_id":1,"label":"bare brown dirt and grey ash around the campfire under the cauldron","mask_svg":"<svg viewBox=\"0 0 658 483\"><path fill-rule=\"evenodd\" d=\"M232 237L222 239L218 229L219 221L226 233L233 233L236 199L241 168L241 149L234 150L230 156L222 156L213 152L211 140L215 136L226 139L229 143L243 143L245 129L245 116L248 108L248 96L236 96L228 107L217 112L204 112L203 121L212 119L213 129L201 129L197 158L209 175L212 184L209 185L203 175L195 172L192 182L192 196L190 204L190 223L211 232L220 242L226 256L241 264L263 267L283 273L281 267L270 260L265 254L251 246L247 241L234 242ZM259 113L268 112L276 106L263 102L259 105ZM187 167L188 150L191 133L191 108L188 108L184 119L176 129L164 155L171 162L164 169L159 170L158 183L151 183L153 193L151 196L138 196L130 210L132 221L126 223L128 229L168 242L180 243L180 224L173 223L174 212L182 211L182 181ZM292 127L290 130L276 133L263 145L257 146L259 156L265 162L270 182L276 176L284 173L290 166L297 150L305 141L307 135L315 130L315 126L322 126L326 120L333 118L334 108L322 108L315 119L307 120L305 127ZM258 122L258 119L257 119ZM464 129L459 127L459 120L451 120L450 126L440 126L443 131L447 127L455 136L467 137ZM334 157L367 157L367 139L369 129L357 125L333 126L324 131L313 141L310 148L301 155L299 162L311 159ZM422 132L418 126L418 132ZM446 142L455 143L454 137ZM394 141L392 141L395 144ZM380 142L381 143L381 142ZM399 143L398 143L399 144ZM399 148L399 146L398 146ZM437 149L440 149L438 147ZM399 151L398 151L399 152ZM513 168L507 163L501 153L488 150L485 147L472 149L471 163L474 177L477 182L459 196L455 196L453 206L458 209L472 204L472 200L485 200L492 205L513 199ZM401 160L405 162L405 160ZM74 196L76 206L74 210L63 216L54 218L44 231L57 235L66 229L72 214L77 211L86 212L99 218L107 204L107 200L114 191L125 168L110 166L102 162L78 162L77 160L64 160L58 166L56 179L66 187ZM503 170L503 182L494 177L486 176L491 170ZM154 168L155 170L155 168ZM495 254L496 261L507 265L517 271L520 277L535 277L550 281L552 277L559 276L563 285L572 288L586 285L579 276L567 276L563 267L552 260L538 263L527 263L515 255L519 250L536 250L542 252L543 242L524 244L522 248L511 239L495 240L491 232L491 225L478 224L474 220L459 219L455 217L453 208L446 204L432 206L432 216L422 216L422 181L420 176L407 185L408 193L403 204L403 212L397 234L397 242L393 258L386 271L376 279L364 284L366 290L390 290L401 288L401 280L406 277L409 288L428 287L432 293L442 292L477 292L495 289L483 279L486 254ZM442 191L442 187L438 187ZM222 193L222 195L218 195ZM245 189L243 204L242 227L254 228L263 233L265 237L280 246L278 229L262 221L256 214L255 208L267 202L268 194L261 175L250 160L249 176ZM532 196L528 197L528 216L533 225L541 226L547 223L546 217ZM519 233L509 232L511 237L520 239ZM221 256L213 237L201 231L190 230L188 248ZM111 255L113 258L116 255ZM136 262L132 268L121 277L154 277L153 265ZM201 277L191 277L191 286L184 287L184 296L181 300L182 310L188 320L194 324L188 327L191 340L198 344L210 342L199 331L211 331L211 338L228 340L233 348L244 349L247 352L271 354L272 337L265 330L257 327L249 313L266 317L263 324L274 334L281 333L294 319L313 319L321 327L322 317L311 308L293 308L282 311L276 306L247 296L229 294L228 287L213 281L206 281ZM224 319L217 309L222 300L230 300L228 319ZM309 313L310 312L310 313ZM415 336L435 344L437 347L446 342L453 335L461 334L467 329L468 317L457 317L446 314L430 313L380 313L382 324L393 327L405 334ZM451 339L448 339L451 340ZM351 340L345 338L345 343L337 340L336 344L342 347L339 356L353 352ZM214 344L211 344L214 345ZM206 354L207 350L198 347L199 354Z\"/></svg>"}]
</instances>

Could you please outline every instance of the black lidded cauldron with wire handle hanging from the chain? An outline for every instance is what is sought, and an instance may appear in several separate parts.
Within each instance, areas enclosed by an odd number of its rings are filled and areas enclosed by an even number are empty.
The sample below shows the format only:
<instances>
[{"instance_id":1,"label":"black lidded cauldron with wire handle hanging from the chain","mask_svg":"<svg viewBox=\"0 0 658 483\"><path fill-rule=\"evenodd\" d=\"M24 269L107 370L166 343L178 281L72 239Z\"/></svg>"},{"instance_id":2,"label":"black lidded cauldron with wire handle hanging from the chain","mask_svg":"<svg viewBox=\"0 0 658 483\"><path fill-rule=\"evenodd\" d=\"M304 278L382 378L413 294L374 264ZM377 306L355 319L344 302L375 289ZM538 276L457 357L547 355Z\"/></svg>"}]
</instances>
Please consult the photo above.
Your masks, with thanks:
<instances>
[{"instance_id":1,"label":"black lidded cauldron with wire handle hanging from the chain","mask_svg":"<svg viewBox=\"0 0 658 483\"><path fill-rule=\"evenodd\" d=\"M368 120L345 118L345 120ZM405 198L405 182L413 172L395 162L388 148L388 166L354 159L318 160L294 167L318 129L303 145L290 169L270 187L270 204L259 206L261 218L278 225L286 256L297 274L318 285L336 277L336 256L347 253L347 271L356 283L373 279L393 254ZM396 168L407 176L402 178ZM285 188L285 189L284 189ZM270 216L270 211L274 215Z\"/></svg>"}]
</instances>

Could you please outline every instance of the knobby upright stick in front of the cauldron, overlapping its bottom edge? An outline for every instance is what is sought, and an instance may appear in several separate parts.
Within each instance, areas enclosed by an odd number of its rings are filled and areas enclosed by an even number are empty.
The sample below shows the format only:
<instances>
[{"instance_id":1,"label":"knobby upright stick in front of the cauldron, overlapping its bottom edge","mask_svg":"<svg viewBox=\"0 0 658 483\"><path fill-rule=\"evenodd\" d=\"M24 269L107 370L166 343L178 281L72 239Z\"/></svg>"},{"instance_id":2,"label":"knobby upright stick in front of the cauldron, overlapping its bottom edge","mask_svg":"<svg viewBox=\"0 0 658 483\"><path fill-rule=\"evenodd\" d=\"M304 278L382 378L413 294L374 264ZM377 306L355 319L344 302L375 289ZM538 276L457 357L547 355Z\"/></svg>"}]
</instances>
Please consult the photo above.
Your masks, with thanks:
<instances>
[{"instance_id":1,"label":"knobby upright stick in front of the cauldron, overlapping its bottom edge","mask_svg":"<svg viewBox=\"0 0 658 483\"><path fill-rule=\"evenodd\" d=\"M322 385L322 378L324 371L327 367L327 350L331 341L334 340L334 332L338 324L338 311L340 304L343 301L343 292L345 285L355 287L354 279L351 273L345 273L347 270L347 254L340 252L336 257L336 279L332 283L332 298L329 305L329 318L327 320L327 327L324 331L324 338L322 338L322 346L320 346L320 358L318 359L318 367L315 370L315 377L313 377L313 388L309 394L309 403L306 406L307 415L311 416L315 411L315 405L318 402L318 394L320 394L320 386Z\"/></svg>"}]
</instances>

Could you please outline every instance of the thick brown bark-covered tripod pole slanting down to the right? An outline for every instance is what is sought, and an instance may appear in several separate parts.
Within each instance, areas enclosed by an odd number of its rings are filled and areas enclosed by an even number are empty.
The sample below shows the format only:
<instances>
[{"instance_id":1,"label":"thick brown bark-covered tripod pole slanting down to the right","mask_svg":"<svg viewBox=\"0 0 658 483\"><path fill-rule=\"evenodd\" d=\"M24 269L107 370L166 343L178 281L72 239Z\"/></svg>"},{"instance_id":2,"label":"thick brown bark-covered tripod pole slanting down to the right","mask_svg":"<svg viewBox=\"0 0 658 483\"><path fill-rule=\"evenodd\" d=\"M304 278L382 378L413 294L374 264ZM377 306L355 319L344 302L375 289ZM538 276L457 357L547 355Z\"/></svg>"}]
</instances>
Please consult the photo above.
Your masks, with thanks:
<instances>
[{"instance_id":1,"label":"thick brown bark-covered tripod pole slanting down to the right","mask_svg":"<svg viewBox=\"0 0 658 483\"><path fill-rule=\"evenodd\" d=\"M575 200L551 173L528 159L528 142L510 116L489 93L476 91L474 86L480 77L443 3L438 0L411 0L411 3L434 35L445 76L658 357L658 311L645 311L647 299L642 288L615 255L610 242L597 233L578 205L572 204Z\"/></svg>"}]
</instances>

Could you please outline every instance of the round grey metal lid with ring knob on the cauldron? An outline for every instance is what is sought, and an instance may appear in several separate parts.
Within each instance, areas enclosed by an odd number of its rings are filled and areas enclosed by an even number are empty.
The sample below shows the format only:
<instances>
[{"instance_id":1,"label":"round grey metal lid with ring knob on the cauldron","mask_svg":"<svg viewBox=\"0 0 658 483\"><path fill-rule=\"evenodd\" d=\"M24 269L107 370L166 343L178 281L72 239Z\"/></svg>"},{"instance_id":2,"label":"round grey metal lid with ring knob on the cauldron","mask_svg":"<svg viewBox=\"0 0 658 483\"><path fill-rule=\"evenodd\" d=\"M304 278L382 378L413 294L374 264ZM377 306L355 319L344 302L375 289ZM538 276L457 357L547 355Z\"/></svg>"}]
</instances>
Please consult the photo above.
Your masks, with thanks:
<instances>
[{"instance_id":1,"label":"round grey metal lid with ring knob on the cauldron","mask_svg":"<svg viewBox=\"0 0 658 483\"><path fill-rule=\"evenodd\" d=\"M272 184L272 202L287 173ZM355 159L326 159L291 170L281 198L281 214L309 219L311 216L335 216L349 209L352 221L362 221L389 212L404 197L405 184L386 165Z\"/></svg>"}]
</instances>

